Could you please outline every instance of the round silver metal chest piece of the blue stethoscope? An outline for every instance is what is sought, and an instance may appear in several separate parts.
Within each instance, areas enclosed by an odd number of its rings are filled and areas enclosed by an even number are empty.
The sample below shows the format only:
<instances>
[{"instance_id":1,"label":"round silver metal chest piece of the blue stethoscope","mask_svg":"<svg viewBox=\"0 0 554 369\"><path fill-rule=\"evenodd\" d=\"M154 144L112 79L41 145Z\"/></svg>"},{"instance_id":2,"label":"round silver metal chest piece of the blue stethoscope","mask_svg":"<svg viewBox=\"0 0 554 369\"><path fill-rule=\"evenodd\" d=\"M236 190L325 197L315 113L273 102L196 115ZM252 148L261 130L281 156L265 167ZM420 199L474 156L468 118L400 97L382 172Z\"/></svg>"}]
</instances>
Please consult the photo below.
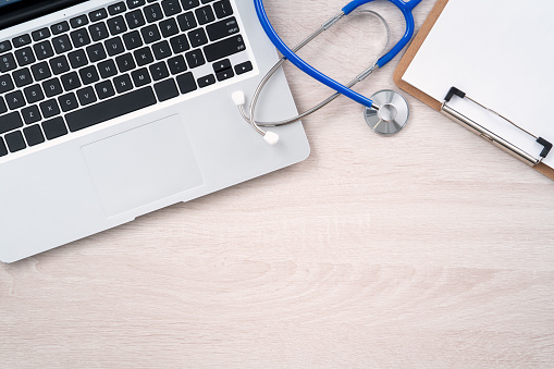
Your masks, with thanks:
<instances>
[{"instance_id":1,"label":"round silver metal chest piece of the blue stethoscope","mask_svg":"<svg viewBox=\"0 0 554 369\"><path fill-rule=\"evenodd\" d=\"M406 99L392 89L383 89L371 96L379 110L366 108L366 122L380 135L390 136L398 133L408 122L409 108Z\"/></svg>"}]
</instances>

